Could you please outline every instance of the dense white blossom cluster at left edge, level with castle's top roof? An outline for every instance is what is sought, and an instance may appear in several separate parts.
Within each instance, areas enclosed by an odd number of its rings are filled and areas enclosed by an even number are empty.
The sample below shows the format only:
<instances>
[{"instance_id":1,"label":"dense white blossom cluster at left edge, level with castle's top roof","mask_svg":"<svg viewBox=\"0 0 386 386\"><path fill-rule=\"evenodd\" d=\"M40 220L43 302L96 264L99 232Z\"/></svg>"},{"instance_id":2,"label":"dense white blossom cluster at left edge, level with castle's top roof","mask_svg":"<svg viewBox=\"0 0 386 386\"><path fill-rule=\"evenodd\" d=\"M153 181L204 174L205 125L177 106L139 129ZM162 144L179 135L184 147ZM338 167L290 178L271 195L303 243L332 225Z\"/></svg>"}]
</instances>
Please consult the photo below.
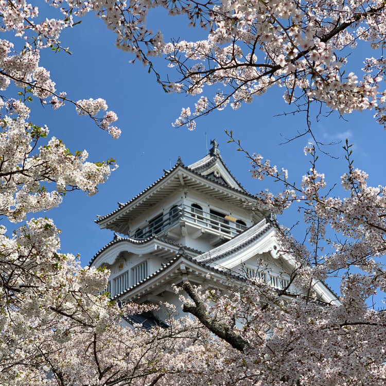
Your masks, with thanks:
<instances>
[{"instance_id":1,"label":"dense white blossom cluster at left edge, level with castle's top roof","mask_svg":"<svg viewBox=\"0 0 386 386\"><path fill-rule=\"evenodd\" d=\"M22 118L2 120L0 213L11 221L58 206L61 194L68 190L81 189L93 195L97 185L110 175L113 160L86 162L86 151L72 154L55 137L33 153L39 138L47 134L46 127L34 126ZM52 191L48 191L51 185Z\"/></svg>"}]
</instances>

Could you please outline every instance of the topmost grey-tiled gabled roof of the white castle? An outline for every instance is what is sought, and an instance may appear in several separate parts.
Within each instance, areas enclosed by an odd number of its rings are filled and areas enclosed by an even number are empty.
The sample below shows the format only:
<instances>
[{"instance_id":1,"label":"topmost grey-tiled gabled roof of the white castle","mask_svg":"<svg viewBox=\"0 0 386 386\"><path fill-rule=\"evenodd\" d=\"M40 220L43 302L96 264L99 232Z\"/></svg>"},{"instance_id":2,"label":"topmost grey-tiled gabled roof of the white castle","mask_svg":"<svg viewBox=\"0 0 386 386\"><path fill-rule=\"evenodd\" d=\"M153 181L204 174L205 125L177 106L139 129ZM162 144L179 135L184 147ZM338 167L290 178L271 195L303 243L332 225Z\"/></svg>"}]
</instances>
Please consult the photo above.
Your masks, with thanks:
<instances>
[{"instance_id":1,"label":"topmost grey-tiled gabled roof of the white castle","mask_svg":"<svg viewBox=\"0 0 386 386\"><path fill-rule=\"evenodd\" d=\"M125 234L129 229L128 222L137 218L145 210L165 199L182 186L197 190L207 190L209 188L210 195L214 198L226 199L227 202L243 208L243 203L256 200L255 196L244 190L238 181L234 179L219 154L210 156L207 159L206 157L190 166L185 166L179 157L176 165L170 170L166 170L161 178L125 204L118 203L119 207L110 214L97 216L95 222L99 224L101 229L107 228ZM220 170L219 174L223 181L216 178L216 176L211 177L212 170ZM206 175L205 173L209 174Z\"/></svg>"}]
</instances>

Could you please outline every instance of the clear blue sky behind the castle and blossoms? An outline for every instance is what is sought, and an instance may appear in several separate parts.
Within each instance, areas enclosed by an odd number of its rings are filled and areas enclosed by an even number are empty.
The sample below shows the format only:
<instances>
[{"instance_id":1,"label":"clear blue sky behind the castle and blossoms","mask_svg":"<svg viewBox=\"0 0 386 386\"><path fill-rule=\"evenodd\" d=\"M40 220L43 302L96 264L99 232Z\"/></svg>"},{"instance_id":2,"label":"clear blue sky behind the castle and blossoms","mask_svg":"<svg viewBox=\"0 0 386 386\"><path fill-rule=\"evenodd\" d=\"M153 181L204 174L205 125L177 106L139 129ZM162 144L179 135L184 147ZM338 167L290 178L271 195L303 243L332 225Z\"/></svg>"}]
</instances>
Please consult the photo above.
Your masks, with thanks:
<instances>
[{"instance_id":1,"label":"clear blue sky behind the castle and blossoms","mask_svg":"<svg viewBox=\"0 0 386 386\"><path fill-rule=\"evenodd\" d=\"M185 40L199 36L199 31L181 28L179 20L167 20L161 15L153 17L157 24L154 29L165 24L165 39L179 37L176 33L185 33L182 36ZM59 208L43 214L53 218L62 230L62 252L80 253L83 265L113 238L111 231L99 230L94 223L96 215L112 212L118 201L130 200L161 177L163 169L169 168L169 159L174 165L180 155L187 165L204 156L205 132L208 141L216 138L225 163L252 194L278 187L272 181L258 182L250 177L248 161L234 145L226 144L224 129L233 130L250 152L261 153L277 166L288 168L293 181L300 182L302 174L309 168L309 160L303 154L308 137L279 145L283 142L280 134L291 137L297 130L304 131L305 127L302 115L274 117L290 109L283 101L283 90L271 89L237 111L225 109L203 117L193 132L185 128L174 129L171 122L179 116L181 108L193 107L196 99L165 94L146 68L141 64L130 64L132 58L115 48L115 36L101 20L90 14L81 25L65 31L61 40L63 46L69 46L72 56L48 50L43 51L42 56L42 64L50 70L57 90L66 91L67 96L74 100L90 97L106 99L109 108L118 114L117 126L122 130L120 139L113 140L91 119L76 115L71 104L57 111L43 108L39 103L33 104L31 121L47 125L50 135L61 138L70 150L86 149L90 153L90 161L113 156L119 164L109 181L100 186L97 195L87 197L82 192L73 192L65 197ZM372 53L365 52L364 55L371 56ZM166 65L162 60L156 64ZM355 144L356 167L367 171L371 183L378 185L385 182L386 133L373 120L373 114L354 113L345 117L347 121L332 115L320 122L314 121L313 131L324 142L344 141L349 137L350 142ZM325 172L328 184L339 183L339 177L346 170L341 145L328 150L340 159L336 161L322 155L319 169ZM39 214L34 215L37 216ZM281 216L279 221L291 226L297 219L296 211L292 210ZM295 234L300 237L303 234L301 231L299 227Z\"/></svg>"}]
</instances>

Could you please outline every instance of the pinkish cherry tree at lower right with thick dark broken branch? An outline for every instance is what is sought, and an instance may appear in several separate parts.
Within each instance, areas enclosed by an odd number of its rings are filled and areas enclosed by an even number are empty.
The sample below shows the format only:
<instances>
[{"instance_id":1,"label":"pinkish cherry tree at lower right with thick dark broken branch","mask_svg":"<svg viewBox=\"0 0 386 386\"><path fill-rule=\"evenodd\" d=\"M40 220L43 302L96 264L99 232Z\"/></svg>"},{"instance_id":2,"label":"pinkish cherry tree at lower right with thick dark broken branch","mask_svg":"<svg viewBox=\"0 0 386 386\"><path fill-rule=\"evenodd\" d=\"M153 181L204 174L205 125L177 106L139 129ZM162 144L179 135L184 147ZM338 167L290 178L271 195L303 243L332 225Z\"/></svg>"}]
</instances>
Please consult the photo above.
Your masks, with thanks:
<instances>
[{"instance_id":1,"label":"pinkish cherry tree at lower right with thick dark broken branch","mask_svg":"<svg viewBox=\"0 0 386 386\"><path fill-rule=\"evenodd\" d=\"M372 296L380 292L384 299L386 289L385 187L367 186L368 176L354 167L348 142L348 171L341 178L347 196L336 197L317 171L313 145L304 149L312 167L296 185L287 170L250 155L229 136L250 158L253 178L283 184L277 195L261 192L255 209L279 213L301 203L308 237L297 242L277 226L279 253L296 261L283 290L248 274L244 285L225 295L183 285L192 300L185 299L184 310L217 337L196 362L189 357L192 365L184 368L184 378L193 384L200 384L197 374L201 384L384 384L386 320ZM315 283L330 277L340 278L340 305L324 304L313 292ZM290 285L306 291L284 299ZM230 320L239 323L232 326Z\"/></svg>"}]
</instances>

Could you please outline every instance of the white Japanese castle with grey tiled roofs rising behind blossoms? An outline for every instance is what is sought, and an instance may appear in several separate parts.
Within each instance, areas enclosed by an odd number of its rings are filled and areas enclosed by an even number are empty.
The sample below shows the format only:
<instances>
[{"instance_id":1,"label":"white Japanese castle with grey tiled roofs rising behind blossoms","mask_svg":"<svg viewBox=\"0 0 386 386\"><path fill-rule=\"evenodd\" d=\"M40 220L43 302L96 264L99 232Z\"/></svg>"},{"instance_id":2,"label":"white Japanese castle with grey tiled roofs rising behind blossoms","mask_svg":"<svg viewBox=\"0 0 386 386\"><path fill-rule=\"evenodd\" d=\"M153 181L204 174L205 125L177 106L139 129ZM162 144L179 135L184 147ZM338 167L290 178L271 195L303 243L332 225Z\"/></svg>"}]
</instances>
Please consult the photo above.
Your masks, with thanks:
<instances>
[{"instance_id":1,"label":"white Japanese castle with grey tiled roofs rising behind blossoms","mask_svg":"<svg viewBox=\"0 0 386 386\"><path fill-rule=\"evenodd\" d=\"M185 166L179 157L137 196L98 216L99 227L115 233L90 265L110 269L112 299L181 306L173 285L184 280L225 290L230 280L251 276L285 289L284 297L302 294L290 282L296 261L279 252L275 217L251 210L256 197L226 167L216 142L211 144L199 161ZM322 282L313 290L323 302L339 302ZM145 328L163 325L163 318L162 311L125 317Z\"/></svg>"}]
</instances>

